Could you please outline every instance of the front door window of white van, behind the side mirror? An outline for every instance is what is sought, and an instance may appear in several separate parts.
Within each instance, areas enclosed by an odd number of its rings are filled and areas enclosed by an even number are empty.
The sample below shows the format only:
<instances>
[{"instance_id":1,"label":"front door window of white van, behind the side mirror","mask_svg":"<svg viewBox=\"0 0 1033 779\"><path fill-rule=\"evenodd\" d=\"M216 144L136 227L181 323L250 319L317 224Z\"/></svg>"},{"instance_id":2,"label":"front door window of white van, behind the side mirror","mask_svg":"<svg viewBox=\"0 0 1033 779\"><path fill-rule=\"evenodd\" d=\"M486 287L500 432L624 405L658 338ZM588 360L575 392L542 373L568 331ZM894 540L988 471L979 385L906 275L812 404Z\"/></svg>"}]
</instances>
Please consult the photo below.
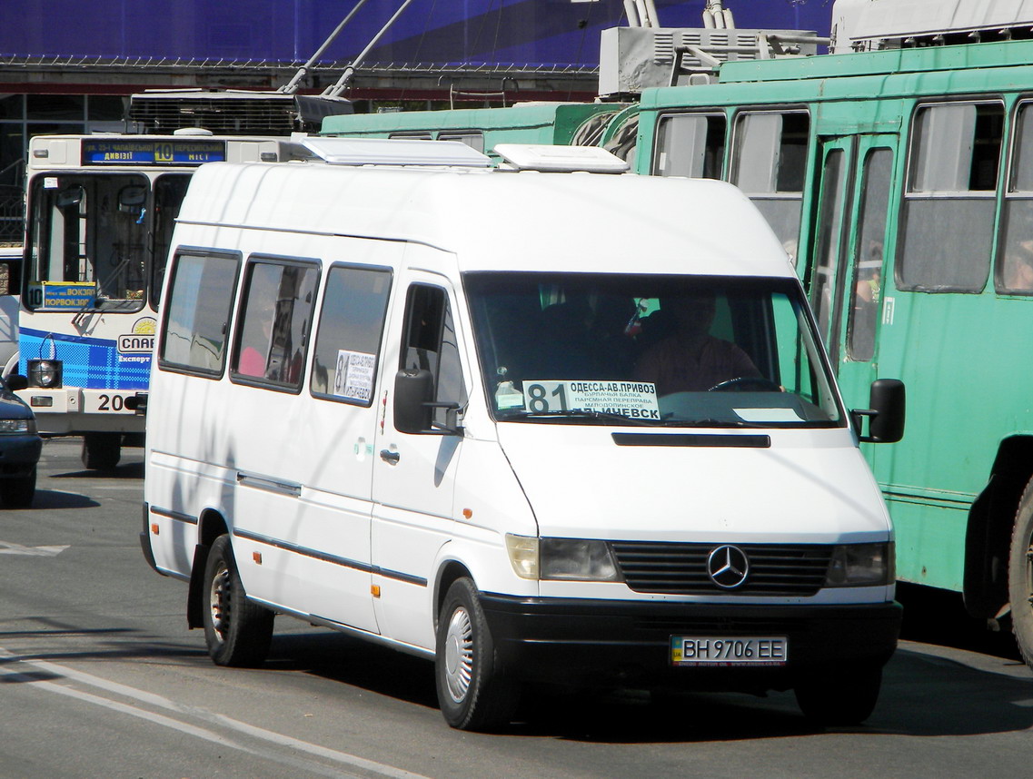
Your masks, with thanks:
<instances>
[{"instance_id":1,"label":"front door window of white van, behind the side mirror","mask_svg":"<svg viewBox=\"0 0 1033 779\"><path fill-rule=\"evenodd\" d=\"M440 403L466 403L466 387L456 340L456 325L448 297L440 287L414 284L406 299L401 364L403 370L430 370L434 399ZM446 425L447 411L436 409L434 421Z\"/></svg>"}]
</instances>

